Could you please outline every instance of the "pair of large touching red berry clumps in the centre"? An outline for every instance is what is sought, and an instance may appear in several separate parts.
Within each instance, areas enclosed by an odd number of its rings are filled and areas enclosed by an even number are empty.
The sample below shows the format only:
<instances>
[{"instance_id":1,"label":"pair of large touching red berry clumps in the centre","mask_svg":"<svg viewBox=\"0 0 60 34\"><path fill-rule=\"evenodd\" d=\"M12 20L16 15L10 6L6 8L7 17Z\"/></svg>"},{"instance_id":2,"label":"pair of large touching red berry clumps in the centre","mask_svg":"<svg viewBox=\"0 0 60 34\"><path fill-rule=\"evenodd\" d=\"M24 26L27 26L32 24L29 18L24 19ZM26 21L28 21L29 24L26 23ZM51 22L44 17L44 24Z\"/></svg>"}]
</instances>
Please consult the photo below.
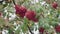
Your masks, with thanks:
<instances>
[{"instance_id":1,"label":"pair of large touching red berry clumps in the centre","mask_svg":"<svg viewBox=\"0 0 60 34\"><path fill-rule=\"evenodd\" d=\"M37 22L38 21L38 19L35 18L35 16L36 16L35 11L27 10L26 7L19 6L19 5L15 5L15 9L16 9L16 14L19 17L24 18L24 16L26 16L26 18L28 18L28 20L32 20L34 22Z\"/></svg>"}]
</instances>

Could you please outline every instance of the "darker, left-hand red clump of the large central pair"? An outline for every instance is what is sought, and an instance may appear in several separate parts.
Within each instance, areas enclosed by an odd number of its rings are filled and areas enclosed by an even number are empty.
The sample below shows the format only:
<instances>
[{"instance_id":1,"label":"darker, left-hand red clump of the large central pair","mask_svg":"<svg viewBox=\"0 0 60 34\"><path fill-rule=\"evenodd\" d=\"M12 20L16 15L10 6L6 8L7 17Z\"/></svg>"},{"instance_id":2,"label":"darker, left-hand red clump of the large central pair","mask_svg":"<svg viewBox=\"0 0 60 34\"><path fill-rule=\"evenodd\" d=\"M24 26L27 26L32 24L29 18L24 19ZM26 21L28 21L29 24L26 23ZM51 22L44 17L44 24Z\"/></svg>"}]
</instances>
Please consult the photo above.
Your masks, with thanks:
<instances>
[{"instance_id":1,"label":"darker, left-hand red clump of the large central pair","mask_svg":"<svg viewBox=\"0 0 60 34\"><path fill-rule=\"evenodd\" d=\"M19 17L23 18L25 16L27 9L24 6L15 5L15 9L16 9L16 14Z\"/></svg>"}]
</instances>

